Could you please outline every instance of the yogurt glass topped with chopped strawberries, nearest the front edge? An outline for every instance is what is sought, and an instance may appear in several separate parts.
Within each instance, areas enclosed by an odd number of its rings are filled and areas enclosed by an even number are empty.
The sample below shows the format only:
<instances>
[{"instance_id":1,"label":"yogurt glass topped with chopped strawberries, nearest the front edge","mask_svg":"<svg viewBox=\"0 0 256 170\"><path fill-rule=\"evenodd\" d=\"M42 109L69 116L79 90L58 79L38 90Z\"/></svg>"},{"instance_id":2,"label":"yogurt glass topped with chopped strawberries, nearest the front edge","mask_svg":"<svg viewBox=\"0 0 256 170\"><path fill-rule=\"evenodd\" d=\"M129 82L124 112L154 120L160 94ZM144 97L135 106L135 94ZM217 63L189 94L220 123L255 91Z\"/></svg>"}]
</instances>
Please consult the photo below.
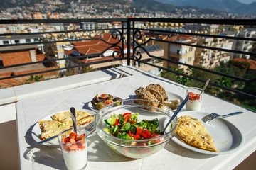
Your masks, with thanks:
<instances>
[{"instance_id":1,"label":"yogurt glass topped with chopped strawberries, nearest the front edge","mask_svg":"<svg viewBox=\"0 0 256 170\"><path fill-rule=\"evenodd\" d=\"M71 132L71 133L70 133ZM87 130L73 128L64 130L58 135L65 165L70 170L85 169L87 166Z\"/></svg>"}]
</instances>

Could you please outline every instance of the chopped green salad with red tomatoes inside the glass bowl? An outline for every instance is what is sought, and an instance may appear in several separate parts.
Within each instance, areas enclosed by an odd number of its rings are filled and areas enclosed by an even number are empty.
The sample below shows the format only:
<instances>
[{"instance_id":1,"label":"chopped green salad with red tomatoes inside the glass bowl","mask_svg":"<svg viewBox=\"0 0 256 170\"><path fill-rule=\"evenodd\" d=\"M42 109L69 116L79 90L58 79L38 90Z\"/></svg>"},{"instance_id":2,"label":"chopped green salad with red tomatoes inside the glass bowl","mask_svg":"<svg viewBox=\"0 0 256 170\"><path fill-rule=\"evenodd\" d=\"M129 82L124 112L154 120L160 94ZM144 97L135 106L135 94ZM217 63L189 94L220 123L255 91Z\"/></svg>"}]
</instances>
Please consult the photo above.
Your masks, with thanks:
<instances>
[{"instance_id":1,"label":"chopped green salad with red tomatoes inside the glass bowl","mask_svg":"<svg viewBox=\"0 0 256 170\"><path fill-rule=\"evenodd\" d=\"M143 140L159 137L160 130L159 120L157 118L153 120L142 120L138 122L137 116L139 113L124 113L119 115L110 115L110 118L105 119L107 128L103 128L107 134L113 135L126 140ZM164 140L153 140L148 145L158 143Z\"/></svg>"}]
</instances>

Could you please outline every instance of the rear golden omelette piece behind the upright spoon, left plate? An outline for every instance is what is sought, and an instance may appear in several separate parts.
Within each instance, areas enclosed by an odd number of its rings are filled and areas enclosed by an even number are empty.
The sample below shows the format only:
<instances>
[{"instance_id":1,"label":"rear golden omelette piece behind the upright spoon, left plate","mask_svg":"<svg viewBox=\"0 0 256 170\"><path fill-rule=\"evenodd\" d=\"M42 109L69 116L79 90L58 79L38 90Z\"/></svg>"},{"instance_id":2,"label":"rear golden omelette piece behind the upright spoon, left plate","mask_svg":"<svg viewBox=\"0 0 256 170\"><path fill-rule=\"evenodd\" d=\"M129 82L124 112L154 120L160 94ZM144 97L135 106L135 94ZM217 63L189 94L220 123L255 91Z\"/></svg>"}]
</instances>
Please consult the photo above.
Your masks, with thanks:
<instances>
[{"instance_id":1,"label":"rear golden omelette piece behind the upright spoon, left plate","mask_svg":"<svg viewBox=\"0 0 256 170\"><path fill-rule=\"evenodd\" d=\"M70 114L70 111L56 113L55 115L52 115L51 118L69 127L73 127L73 122ZM77 126L84 125L85 123L90 123L94 119L93 115L90 115L90 113L87 113L85 111L75 111L75 117Z\"/></svg>"}]
</instances>

